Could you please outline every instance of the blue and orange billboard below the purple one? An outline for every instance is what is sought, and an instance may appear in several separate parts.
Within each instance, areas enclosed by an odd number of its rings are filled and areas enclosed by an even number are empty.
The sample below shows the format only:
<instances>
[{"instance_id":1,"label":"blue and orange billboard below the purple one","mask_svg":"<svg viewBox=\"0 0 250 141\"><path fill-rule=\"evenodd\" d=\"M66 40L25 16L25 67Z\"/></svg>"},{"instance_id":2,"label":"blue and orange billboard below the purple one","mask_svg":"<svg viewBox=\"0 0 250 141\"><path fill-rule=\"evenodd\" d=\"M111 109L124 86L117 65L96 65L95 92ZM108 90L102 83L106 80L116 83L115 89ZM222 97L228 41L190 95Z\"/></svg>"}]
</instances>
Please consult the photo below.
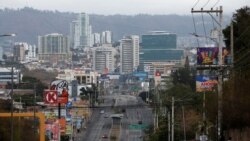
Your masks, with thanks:
<instances>
[{"instance_id":1,"label":"blue and orange billboard below the purple one","mask_svg":"<svg viewBox=\"0 0 250 141\"><path fill-rule=\"evenodd\" d=\"M215 91L218 84L217 76L197 75L196 92Z\"/></svg>"}]
</instances>

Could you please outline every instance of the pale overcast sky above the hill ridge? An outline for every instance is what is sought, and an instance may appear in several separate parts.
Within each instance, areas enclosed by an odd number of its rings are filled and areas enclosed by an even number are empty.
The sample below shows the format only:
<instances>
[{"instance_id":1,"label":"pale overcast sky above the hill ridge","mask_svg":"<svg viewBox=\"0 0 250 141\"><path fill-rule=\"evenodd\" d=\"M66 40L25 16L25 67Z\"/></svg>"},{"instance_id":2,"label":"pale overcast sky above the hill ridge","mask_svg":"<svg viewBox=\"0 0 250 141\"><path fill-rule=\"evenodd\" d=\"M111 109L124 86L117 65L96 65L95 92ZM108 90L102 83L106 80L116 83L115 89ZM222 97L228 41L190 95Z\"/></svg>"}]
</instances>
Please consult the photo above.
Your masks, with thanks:
<instances>
[{"instance_id":1,"label":"pale overcast sky above the hill ridge","mask_svg":"<svg viewBox=\"0 0 250 141\"><path fill-rule=\"evenodd\" d=\"M218 1L218 3L217 3ZM198 3L197 3L198 2ZM208 2L208 4L206 4ZM189 15L191 8L223 6L225 14L250 5L250 0L0 0L0 8L33 7L39 10L86 12L90 14L178 14Z\"/></svg>"}]
</instances>

